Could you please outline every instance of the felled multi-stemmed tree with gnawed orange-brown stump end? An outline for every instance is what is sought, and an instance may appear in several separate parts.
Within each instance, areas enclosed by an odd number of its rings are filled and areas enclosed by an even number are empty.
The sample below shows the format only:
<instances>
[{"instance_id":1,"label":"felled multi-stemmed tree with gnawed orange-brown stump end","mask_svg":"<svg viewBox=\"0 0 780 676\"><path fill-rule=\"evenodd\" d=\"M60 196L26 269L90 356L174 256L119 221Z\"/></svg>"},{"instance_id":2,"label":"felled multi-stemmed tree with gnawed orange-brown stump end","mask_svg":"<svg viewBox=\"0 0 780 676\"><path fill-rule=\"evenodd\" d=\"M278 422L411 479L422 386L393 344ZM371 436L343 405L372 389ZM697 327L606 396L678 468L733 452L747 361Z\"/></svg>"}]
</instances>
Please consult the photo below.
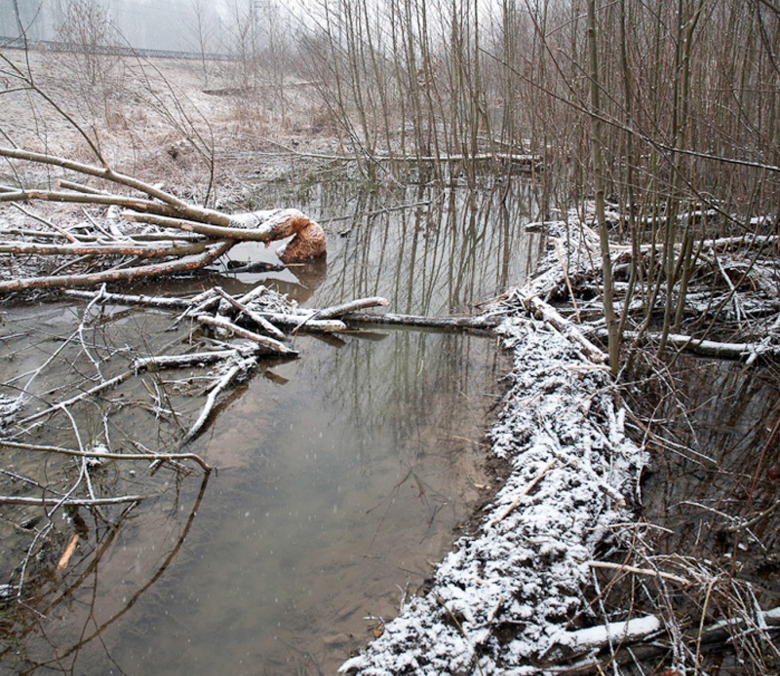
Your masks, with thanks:
<instances>
[{"instance_id":1,"label":"felled multi-stemmed tree with gnawed orange-brown stump end","mask_svg":"<svg viewBox=\"0 0 780 676\"><path fill-rule=\"evenodd\" d=\"M30 218L44 222L53 228L58 236L65 237L70 244L65 246L41 244L39 242L2 242L0 253L9 255L62 255L62 256L133 256L144 258L181 258L196 256L186 261L166 262L159 266L133 265L122 270L111 269L95 273L52 275L40 278L17 278L0 283L0 294L26 291L33 288L74 288L94 286L112 281L133 281L138 278L157 277L162 274L176 274L197 270L222 256L236 242L273 242L292 237L285 246L277 251L278 257L285 263L302 262L324 256L325 234L320 225L296 209L274 211L254 211L244 214L224 214L221 211L187 204L179 197L166 192L158 186L115 172L106 165L87 165L66 157L37 153L20 148L0 147L0 157L9 160L34 162L91 176L132 189L136 195L122 195L105 192L91 186L83 186L73 181L60 180L61 189L27 189L17 186L0 186L0 203L15 204ZM116 242L98 241L94 246L85 245L65 229L36 214L30 213L20 203L30 201L60 202L72 204L96 204L105 207L124 207L122 216L127 221L136 221L155 225L159 228L173 228L179 231L203 235L204 242L194 242L186 246L143 246L131 238ZM91 219L90 219L91 220ZM93 221L95 228L102 228ZM9 231L10 232L10 231ZM14 232L28 236L24 228ZM34 231L29 236L37 237ZM45 235L41 235L45 236ZM100 239L99 235L96 238ZM211 240L211 242L209 241ZM216 248L207 245L214 244Z\"/></svg>"}]
</instances>

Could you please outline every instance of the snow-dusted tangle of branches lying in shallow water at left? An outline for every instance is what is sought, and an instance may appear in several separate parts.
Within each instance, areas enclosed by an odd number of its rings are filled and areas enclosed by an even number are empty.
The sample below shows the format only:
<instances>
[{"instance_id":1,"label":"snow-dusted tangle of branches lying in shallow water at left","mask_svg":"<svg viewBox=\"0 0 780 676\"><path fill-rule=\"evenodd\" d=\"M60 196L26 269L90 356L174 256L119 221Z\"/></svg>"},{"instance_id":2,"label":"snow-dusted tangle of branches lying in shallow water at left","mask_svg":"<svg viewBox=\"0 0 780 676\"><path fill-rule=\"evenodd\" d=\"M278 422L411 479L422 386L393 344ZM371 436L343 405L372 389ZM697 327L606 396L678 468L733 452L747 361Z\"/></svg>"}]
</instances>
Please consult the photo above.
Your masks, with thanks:
<instances>
[{"instance_id":1,"label":"snow-dusted tangle of branches lying in shallow water at left","mask_svg":"<svg viewBox=\"0 0 780 676\"><path fill-rule=\"evenodd\" d=\"M39 357L41 363L33 370L0 384L0 449L5 456L0 478L6 487L0 508L3 523L15 525L17 536L29 538L16 567L4 571L12 582L0 586L0 594L20 602L27 598L36 566L55 563L44 551L61 547L56 565L64 569L80 541L78 533L62 540L55 515L66 513L71 519L64 523L76 524L83 522L79 510L88 510L109 526L122 522L127 509L158 497L168 486L151 476L140 480L133 469L139 463L147 465L150 475L165 468L177 477L187 476L192 469L186 465L208 474L212 465L185 447L203 433L236 384L264 364L294 359L299 354L293 345L297 334L347 331L341 317L387 304L385 299L367 298L304 310L263 286L239 296L214 287L190 298L112 294L105 287L66 293L76 303L86 301L77 325L56 337L59 346ZM106 324L124 316L116 312L122 306L164 310L165 333L176 331L176 338L145 356L139 348L101 343ZM14 345L22 345L23 353L30 338L41 336L21 331L6 338L10 357ZM148 339L144 335L144 341ZM163 372L174 376L163 380ZM137 393L144 391L147 397L139 398ZM195 415L186 405L188 398L202 400ZM141 423L126 434L130 410L154 424ZM52 437L59 443L52 443ZM31 456L49 459L30 462ZM139 481L144 489L124 490L137 489ZM10 552L18 544L9 547Z\"/></svg>"}]
</instances>

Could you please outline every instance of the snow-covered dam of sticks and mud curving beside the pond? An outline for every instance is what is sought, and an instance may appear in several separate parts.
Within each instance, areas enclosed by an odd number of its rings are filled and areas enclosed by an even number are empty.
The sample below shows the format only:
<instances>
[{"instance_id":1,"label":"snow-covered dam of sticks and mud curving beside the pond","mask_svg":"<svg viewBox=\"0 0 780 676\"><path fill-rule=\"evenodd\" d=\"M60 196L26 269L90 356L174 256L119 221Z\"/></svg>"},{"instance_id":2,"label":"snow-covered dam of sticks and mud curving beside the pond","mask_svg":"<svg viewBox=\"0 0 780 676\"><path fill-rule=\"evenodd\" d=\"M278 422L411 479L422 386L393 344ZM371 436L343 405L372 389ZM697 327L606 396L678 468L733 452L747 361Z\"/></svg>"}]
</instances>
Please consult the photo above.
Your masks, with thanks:
<instances>
[{"instance_id":1,"label":"snow-covered dam of sticks and mud curving beside the pond","mask_svg":"<svg viewBox=\"0 0 780 676\"><path fill-rule=\"evenodd\" d=\"M583 292L598 289L599 240L574 214L548 229L541 274L487 313L506 317L498 331L514 355L512 389L491 432L492 452L512 472L426 593L341 671L530 676L671 666L665 673L682 674L698 673L707 653L725 649L766 673L780 657L780 611L762 609L733 571L655 554L659 526L633 521L647 455L624 434L619 388L591 341L599 322L587 319L601 316L601 299ZM767 300L771 314L775 300ZM718 354L775 358L778 336L771 327L766 336L761 350L718 344ZM690 339L685 346L709 347ZM621 580L631 591L621 607L608 607Z\"/></svg>"}]
</instances>

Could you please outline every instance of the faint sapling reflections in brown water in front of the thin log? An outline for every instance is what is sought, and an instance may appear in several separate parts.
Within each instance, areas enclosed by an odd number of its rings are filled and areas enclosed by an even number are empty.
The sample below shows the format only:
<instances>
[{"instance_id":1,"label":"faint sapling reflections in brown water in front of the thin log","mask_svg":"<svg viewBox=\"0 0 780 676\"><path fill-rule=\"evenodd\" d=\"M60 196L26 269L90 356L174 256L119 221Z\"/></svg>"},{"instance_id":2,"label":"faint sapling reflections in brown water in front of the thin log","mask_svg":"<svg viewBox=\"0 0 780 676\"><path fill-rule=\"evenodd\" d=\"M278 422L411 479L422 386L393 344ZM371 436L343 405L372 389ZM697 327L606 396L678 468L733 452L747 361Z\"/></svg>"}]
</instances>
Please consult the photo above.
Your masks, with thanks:
<instances>
[{"instance_id":1,"label":"faint sapling reflections in brown water in front of the thin log","mask_svg":"<svg viewBox=\"0 0 780 676\"><path fill-rule=\"evenodd\" d=\"M312 366L313 387L349 434L369 453L378 438L392 440L399 454L434 451L446 436L479 441L491 403L484 395L502 375L491 338L434 331L385 334L381 342L351 337Z\"/></svg>"}]
</instances>

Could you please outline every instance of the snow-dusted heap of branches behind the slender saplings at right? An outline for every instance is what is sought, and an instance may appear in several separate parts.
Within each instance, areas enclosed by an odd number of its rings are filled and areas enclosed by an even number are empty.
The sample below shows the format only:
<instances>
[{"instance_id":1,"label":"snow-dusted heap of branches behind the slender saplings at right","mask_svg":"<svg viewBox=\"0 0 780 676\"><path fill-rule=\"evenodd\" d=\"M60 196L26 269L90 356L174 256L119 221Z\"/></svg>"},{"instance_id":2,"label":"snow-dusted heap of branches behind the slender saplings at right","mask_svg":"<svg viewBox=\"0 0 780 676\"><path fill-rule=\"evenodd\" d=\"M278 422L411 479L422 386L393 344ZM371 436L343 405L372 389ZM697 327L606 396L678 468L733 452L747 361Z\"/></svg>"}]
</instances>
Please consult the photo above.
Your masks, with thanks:
<instances>
[{"instance_id":1,"label":"snow-dusted heap of branches behind the slender saplings at right","mask_svg":"<svg viewBox=\"0 0 780 676\"><path fill-rule=\"evenodd\" d=\"M569 322L568 330L577 327L584 336L605 339L601 260L597 233L590 224L589 218L583 220L573 210L567 221L528 225L551 235L550 246L563 278L556 285L542 276L529 300L515 297L512 302L515 306L534 306L537 299L555 303ZM778 241L777 235L755 234L701 240L686 273L682 303L679 292L668 298L664 285L657 286L654 299L648 297L629 272L632 266L651 269L651 259L659 255L661 245L643 245L637 251L612 245L615 306L622 313L619 333L624 348L629 352L642 345L684 349L749 364L780 358ZM679 317L671 331L663 331L668 303L679 305ZM648 316L651 304L656 309Z\"/></svg>"}]
</instances>

